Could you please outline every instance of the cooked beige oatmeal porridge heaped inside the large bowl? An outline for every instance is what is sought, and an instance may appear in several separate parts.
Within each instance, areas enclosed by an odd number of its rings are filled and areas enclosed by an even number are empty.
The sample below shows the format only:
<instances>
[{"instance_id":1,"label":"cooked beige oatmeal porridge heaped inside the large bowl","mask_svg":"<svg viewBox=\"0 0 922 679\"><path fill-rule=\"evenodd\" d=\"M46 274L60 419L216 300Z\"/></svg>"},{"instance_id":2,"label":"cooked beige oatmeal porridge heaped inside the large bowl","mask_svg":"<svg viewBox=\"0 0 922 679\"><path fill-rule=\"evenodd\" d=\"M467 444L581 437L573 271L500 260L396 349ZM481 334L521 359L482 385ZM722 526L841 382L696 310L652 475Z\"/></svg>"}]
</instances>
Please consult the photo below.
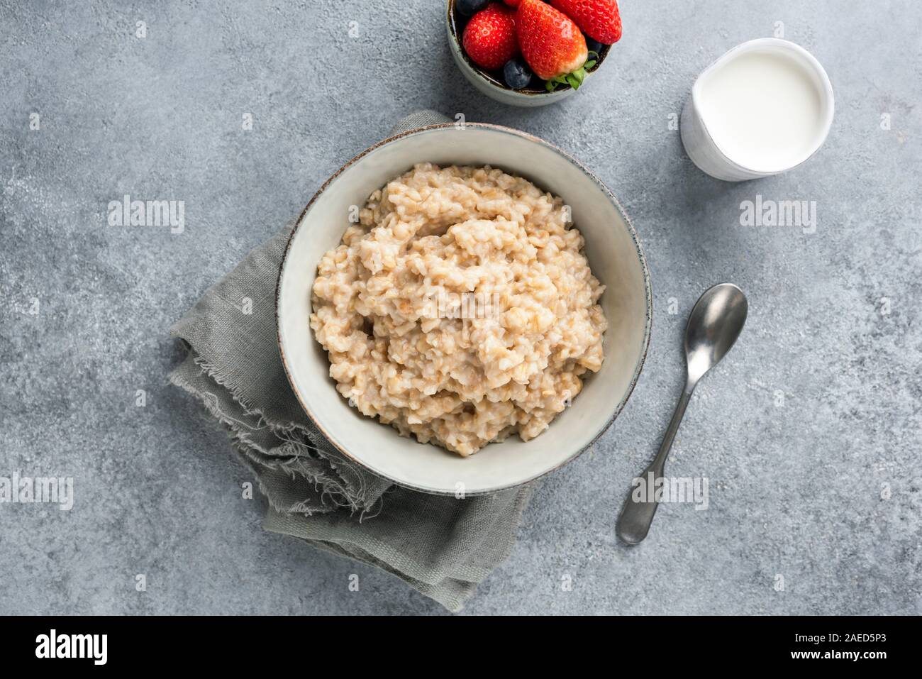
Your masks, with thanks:
<instances>
[{"instance_id":1,"label":"cooked beige oatmeal porridge heaped inside the large bowl","mask_svg":"<svg viewBox=\"0 0 922 679\"><path fill-rule=\"evenodd\" d=\"M559 197L421 163L375 191L313 284L311 328L362 414L468 456L539 435L602 366L605 289Z\"/></svg>"}]
</instances>

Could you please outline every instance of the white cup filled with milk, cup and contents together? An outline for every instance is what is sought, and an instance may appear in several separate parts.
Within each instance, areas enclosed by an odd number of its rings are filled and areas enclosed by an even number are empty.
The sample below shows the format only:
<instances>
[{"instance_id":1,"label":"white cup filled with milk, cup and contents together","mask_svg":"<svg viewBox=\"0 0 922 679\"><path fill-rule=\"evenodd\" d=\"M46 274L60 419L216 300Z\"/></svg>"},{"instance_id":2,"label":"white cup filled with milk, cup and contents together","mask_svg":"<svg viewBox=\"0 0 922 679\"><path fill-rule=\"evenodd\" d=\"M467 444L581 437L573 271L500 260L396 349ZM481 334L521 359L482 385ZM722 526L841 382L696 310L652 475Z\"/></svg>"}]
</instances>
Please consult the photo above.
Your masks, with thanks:
<instances>
[{"instance_id":1,"label":"white cup filled with milk, cup and contents together","mask_svg":"<svg viewBox=\"0 0 922 679\"><path fill-rule=\"evenodd\" d=\"M727 182L783 173L817 152L833 125L833 86L812 54L776 38L743 42L695 81L682 144Z\"/></svg>"}]
</instances>

